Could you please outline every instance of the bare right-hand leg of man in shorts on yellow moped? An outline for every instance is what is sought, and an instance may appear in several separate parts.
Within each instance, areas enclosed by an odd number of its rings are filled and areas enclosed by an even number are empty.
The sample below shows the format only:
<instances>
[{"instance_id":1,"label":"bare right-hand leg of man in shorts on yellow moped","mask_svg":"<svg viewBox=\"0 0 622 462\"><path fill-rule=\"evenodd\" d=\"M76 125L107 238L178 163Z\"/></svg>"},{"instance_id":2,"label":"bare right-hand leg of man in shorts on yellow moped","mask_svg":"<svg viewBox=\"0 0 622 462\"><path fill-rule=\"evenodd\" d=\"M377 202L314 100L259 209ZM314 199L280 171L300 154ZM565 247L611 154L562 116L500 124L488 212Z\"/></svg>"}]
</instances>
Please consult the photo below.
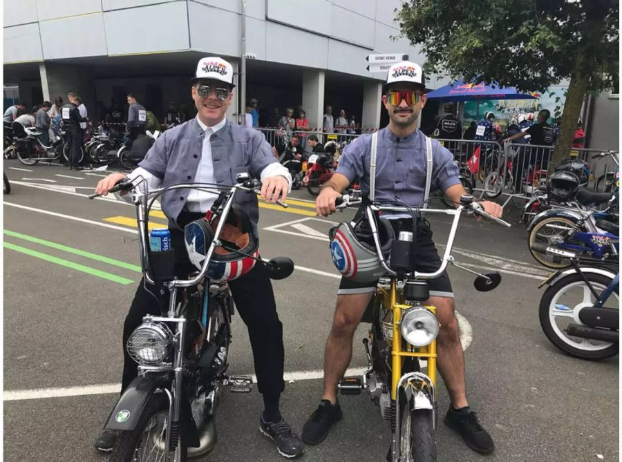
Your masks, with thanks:
<instances>
[{"instance_id":1,"label":"bare right-hand leg of man in shorts on yellow moped","mask_svg":"<svg viewBox=\"0 0 622 462\"><path fill-rule=\"evenodd\" d=\"M445 382L454 409L468 406L464 379L464 353L460 344L458 319L453 311L453 298L430 297L425 305L436 307L441 324L437 338L438 370Z\"/></svg>"}]
</instances>

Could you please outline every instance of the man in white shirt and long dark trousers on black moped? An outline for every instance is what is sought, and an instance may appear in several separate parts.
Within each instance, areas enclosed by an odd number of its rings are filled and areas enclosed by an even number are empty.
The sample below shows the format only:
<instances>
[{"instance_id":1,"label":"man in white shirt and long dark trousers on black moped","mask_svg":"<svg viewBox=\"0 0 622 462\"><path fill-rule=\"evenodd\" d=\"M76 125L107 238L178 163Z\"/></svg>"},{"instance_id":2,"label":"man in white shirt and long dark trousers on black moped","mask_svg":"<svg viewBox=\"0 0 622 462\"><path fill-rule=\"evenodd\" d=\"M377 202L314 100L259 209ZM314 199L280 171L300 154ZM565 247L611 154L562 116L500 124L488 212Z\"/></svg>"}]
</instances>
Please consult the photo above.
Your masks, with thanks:
<instances>
[{"instance_id":1,"label":"man in white shirt and long dark trousers on black moped","mask_svg":"<svg viewBox=\"0 0 622 462\"><path fill-rule=\"evenodd\" d=\"M267 202L285 200L291 189L288 169L272 155L270 144L263 135L245 126L229 122L225 113L232 102L233 68L220 57L199 60L192 79L191 94L198 112L194 119L162 133L151 147L138 169L129 177L141 175L150 188L185 182L235 184L237 173L249 173L261 178L261 197ZM126 175L113 173L97 184L97 193L106 194ZM162 195L162 211L169 219L171 243L176 249L176 273L187 278L192 271L184 242L186 224L205 216L217 194L195 189L176 189ZM236 195L236 204L248 215L256 236L259 209L254 194ZM179 257L179 258L178 258ZM276 313L274 293L263 264L241 278L229 282L238 312L247 325L257 385L263 395L264 411L260 417L261 433L276 444L280 454L296 457L304 446L292 432L279 410L283 382L283 325ZM123 345L142 317L158 309L153 296L143 282L134 296L123 329ZM159 313L158 313L159 314ZM136 363L124 349L122 392L137 375ZM95 441L100 450L112 450L117 434L104 430Z\"/></svg>"}]
</instances>

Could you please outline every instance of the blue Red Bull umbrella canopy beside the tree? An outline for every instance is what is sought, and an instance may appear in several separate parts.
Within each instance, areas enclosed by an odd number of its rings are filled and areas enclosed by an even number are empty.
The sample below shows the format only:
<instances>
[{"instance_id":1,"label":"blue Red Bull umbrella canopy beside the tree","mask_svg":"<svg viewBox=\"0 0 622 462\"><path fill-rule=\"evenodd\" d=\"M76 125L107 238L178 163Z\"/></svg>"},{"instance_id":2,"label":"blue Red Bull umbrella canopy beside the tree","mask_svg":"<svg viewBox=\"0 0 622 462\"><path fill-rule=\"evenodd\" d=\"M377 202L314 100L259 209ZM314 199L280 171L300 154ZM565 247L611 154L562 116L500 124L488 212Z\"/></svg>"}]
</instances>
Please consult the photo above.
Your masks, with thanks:
<instances>
[{"instance_id":1,"label":"blue Red Bull umbrella canopy beside the tree","mask_svg":"<svg viewBox=\"0 0 622 462\"><path fill-rule=\"evenodd\" d=\"M428 99L451 102L478 101L481 99L538 99L539 97L539 93L519 93L516 88L502 88L496 83L490 85L465 84L461 80L428 93Z\"/></svg>"}]
</instances>

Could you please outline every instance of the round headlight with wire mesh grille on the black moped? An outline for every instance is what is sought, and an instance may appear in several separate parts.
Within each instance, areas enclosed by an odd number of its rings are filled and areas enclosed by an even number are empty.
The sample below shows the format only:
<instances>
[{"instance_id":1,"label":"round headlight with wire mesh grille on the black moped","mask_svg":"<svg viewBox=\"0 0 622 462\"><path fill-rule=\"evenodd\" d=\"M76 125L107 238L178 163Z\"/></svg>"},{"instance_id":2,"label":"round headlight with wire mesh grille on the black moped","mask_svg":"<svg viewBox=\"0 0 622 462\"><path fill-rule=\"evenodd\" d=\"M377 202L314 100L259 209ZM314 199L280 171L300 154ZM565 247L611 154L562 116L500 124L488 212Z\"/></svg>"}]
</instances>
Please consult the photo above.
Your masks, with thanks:
<instances>
[{"instance_id":1,"label":"round headlight with wire mesh grille on the black moped","mask_svg":"<svg viewBox=\"0 0 622 462\"><path fill-rule=\"evenodd\" d=\"M128 338L127 352L138 364L159 365L167 357L171 341L173 334L166 325L145 323Z\"/></svg>"}]
</instances>

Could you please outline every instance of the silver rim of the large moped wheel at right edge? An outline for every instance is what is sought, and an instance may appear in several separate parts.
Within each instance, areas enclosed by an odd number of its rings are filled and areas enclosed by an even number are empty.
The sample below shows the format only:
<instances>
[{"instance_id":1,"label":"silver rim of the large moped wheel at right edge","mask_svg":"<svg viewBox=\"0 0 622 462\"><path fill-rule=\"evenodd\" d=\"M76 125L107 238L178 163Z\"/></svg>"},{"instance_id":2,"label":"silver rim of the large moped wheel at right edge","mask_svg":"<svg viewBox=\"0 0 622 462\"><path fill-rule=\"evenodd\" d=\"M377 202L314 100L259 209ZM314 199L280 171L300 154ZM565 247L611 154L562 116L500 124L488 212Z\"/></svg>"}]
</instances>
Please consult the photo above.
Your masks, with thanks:
<instances>
[{"instance_id":1,"label":"silver rim of the large moped wheel at right edge","mask_svg":"<svg viewBox=\"0 0 622 462\"><path fill-rule=\"evenodd\" d=\"M597 292L602 292L606 289L605 285L599 282L590 282ZM617 300L615 306L618 306L618 294L613 292L612 296ZM570 323L584 325L578 317L579 311L585 307L594 306L595 302L596 297L594 297L590 288L583 281L573 282L558 291L549 305L549 323L556 336L567 345L582 349L585 352L598 352L613 345L600 340L569 336L565 332L565 328Z\"/></svg>"}]
</instances>

